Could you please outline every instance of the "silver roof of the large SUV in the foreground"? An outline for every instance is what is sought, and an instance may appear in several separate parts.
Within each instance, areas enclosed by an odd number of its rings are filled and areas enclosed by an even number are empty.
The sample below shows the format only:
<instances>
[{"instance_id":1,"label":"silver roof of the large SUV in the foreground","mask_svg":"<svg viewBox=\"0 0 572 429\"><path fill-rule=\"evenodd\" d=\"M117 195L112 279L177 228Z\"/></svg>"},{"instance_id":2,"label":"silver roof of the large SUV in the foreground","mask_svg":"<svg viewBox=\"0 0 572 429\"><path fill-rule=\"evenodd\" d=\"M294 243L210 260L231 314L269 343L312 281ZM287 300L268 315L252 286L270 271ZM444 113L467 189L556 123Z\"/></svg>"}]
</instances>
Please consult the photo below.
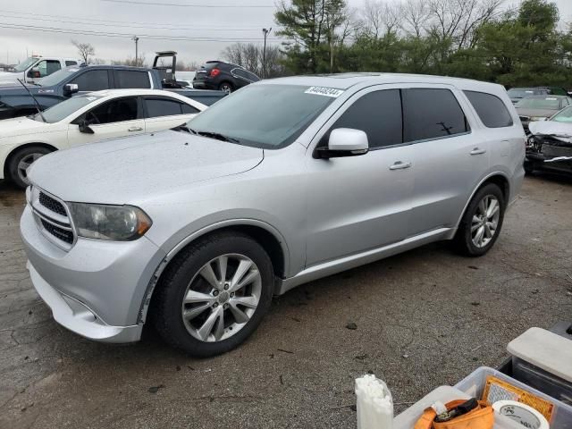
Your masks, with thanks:
<instances>
[{"instance_id":1,"label":"silver roof of the large SUV in the foreground","mask_svg":"<svg viewBox=\"0 0 572 429\"><path fill-rule=\"evenodd\" d=\"M341 73L324 74L313 76L294 76L290 78L279 78L272 80L262 80L260 84L282 84L282 85L304 85L320 86L328 88L349 89L354 86L382 85L391 83L433 83L441 85L454 85L461 89L488 89L494 92L502 88L496 83L482 82L479 80L469 80L461 78L450 78L447 76L430 76L425 74L403 74L403 73Z\"/></svg>"}]
</instances>

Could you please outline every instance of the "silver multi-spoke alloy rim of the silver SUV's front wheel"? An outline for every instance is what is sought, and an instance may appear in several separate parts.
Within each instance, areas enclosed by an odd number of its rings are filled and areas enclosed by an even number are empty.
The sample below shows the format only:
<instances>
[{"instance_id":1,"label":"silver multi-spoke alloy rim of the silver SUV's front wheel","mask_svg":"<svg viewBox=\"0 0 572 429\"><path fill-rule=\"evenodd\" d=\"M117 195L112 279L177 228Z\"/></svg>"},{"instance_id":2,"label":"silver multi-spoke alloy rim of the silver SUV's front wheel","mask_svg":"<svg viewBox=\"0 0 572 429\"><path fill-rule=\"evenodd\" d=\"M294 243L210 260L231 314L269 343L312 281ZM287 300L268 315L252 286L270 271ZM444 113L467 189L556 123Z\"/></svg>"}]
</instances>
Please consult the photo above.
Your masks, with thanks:
<instances>
[{"instance_id":1,"label":"silver multi-spoke alloy rim of the silver SUV's front wheel","mask_svg":"<svg viewBox=\"0 0 572 429\"><path fill-rule=\"evenodd\" d=\"M198 270L182 300L187 331L200 341L223 341L240 331L257 310L262 277L240 254L215 257Z\"/></svg>"}]
</instances>

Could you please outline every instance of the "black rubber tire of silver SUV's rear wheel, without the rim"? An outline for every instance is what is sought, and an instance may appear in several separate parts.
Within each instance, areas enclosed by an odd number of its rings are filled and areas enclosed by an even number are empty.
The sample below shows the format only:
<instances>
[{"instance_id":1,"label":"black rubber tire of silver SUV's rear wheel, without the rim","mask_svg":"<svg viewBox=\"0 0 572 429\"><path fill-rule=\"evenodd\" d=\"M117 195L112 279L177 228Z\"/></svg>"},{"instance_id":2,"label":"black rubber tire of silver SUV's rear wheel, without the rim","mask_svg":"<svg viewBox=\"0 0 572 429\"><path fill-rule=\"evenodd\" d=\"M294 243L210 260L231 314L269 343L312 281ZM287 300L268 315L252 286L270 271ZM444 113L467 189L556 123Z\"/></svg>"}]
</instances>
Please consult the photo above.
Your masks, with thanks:
<instances>
[{"instance_id":1,"label":"black rubber tire of silver SUV's rear wheel, without the rim","mask_svg":"<svg viewBox=\"0 0 572 429\"><path fill-rule=\"evenodd\" d=\"M487 196L497 198L500 206L500 214L496 230L492 235L492 239L486 245L479 248L475 246L475 243L473 242L471 226L473 223L473 216L477 214L479 203L483 200L483 198ZM499 188L498 185L489 183L483 188L477 190L475 196L471 199L471 202L467 206L467 210L465 211L465 214L463 214L461 222L458 224L457 234L454 238L455 247L457 248L458 252L467 257L482 257L484 254L486 254L492 248L492 246L494 246L494 243L501 234L505 210L506 201L502 194L501 188Z\"/></svg>"}]
</instances>

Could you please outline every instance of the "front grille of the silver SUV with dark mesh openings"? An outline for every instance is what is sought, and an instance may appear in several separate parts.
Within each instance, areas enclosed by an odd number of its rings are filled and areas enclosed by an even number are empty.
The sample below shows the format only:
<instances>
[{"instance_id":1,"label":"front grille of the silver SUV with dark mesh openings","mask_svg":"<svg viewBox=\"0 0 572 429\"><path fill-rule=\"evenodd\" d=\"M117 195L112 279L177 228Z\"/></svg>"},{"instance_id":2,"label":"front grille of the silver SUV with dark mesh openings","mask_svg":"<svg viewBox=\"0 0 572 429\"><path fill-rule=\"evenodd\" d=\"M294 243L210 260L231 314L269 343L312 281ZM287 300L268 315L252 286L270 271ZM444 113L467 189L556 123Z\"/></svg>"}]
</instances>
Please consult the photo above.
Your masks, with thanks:
<instances>
[{"instance_id":1,"label":"front grille of the silver SUV with dark mesh openings","mask_svg":"<svg viewBox=\"0 0 572 429\"><path fill-rule=\"evenodd\" d=\"M71 249L75 244L76 234L65 203L34 186L29 192L29 205L38 230L44 237L63 250Z\"/></svg>"}]
</instances>

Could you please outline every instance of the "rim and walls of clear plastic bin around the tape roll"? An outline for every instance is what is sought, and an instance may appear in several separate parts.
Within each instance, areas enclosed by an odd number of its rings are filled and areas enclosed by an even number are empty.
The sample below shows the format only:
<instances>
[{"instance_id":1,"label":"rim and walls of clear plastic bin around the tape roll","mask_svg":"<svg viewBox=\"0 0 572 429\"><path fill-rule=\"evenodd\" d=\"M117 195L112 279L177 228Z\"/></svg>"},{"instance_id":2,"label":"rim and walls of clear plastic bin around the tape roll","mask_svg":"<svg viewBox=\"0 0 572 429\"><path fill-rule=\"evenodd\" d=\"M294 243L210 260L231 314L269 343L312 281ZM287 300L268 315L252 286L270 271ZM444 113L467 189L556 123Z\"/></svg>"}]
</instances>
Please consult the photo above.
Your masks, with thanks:
<instances>
[{"instance_id":1,"label":"rim and walls of clear plastic bin around the tape roll","mask_svg":"<svg viewBox=\"0 0 572 429\"><path fill-rule=\"evenodd\" d=\"M489 368L488 366L481 366L476 369L473 373L467 375L463 380L458 382L455 387L459 391L467 393L467 395L481 398L483 396L484 385L486 379L489 375L493 375L505 382L512 384L524 391L529 391L534 395L542 398L543 400L550 401L554 406L554 411L551 418L551 429L572 429L572 407L559 401L555 400L551 396L543 393L542 391L537 391L536 389L509 377L507 374L502 374L501 372Z\"/></svg>"}]
</instances>

